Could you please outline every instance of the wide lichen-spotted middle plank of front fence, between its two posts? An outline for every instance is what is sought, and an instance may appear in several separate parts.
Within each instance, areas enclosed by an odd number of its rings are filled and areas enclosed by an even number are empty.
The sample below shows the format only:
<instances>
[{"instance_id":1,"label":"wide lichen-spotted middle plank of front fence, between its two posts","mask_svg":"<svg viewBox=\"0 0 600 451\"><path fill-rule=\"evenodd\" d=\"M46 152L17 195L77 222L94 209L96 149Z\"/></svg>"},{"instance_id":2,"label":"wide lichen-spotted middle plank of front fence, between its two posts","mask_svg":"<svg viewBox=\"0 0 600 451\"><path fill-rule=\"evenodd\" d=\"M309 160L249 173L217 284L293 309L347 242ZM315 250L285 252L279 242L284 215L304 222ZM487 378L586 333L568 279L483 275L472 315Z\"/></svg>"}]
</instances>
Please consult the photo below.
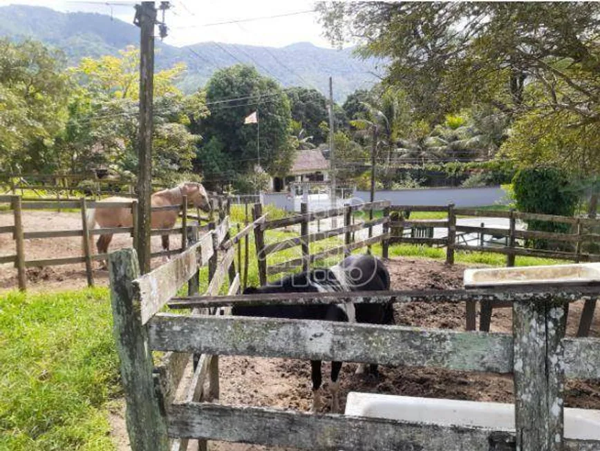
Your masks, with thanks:
<instances>
[{"instance_id":1,"label":"wide lichen-spotted middle plank of front fence, between its two posts","mask_svg":"<svg viewBox=\"0 0 600 451\"><path fill-rule=\"evenodd\" d=\"M148 325L151 347L159 351L512 371L508 334L162 313Z\"/></svg>"}]
</instances>

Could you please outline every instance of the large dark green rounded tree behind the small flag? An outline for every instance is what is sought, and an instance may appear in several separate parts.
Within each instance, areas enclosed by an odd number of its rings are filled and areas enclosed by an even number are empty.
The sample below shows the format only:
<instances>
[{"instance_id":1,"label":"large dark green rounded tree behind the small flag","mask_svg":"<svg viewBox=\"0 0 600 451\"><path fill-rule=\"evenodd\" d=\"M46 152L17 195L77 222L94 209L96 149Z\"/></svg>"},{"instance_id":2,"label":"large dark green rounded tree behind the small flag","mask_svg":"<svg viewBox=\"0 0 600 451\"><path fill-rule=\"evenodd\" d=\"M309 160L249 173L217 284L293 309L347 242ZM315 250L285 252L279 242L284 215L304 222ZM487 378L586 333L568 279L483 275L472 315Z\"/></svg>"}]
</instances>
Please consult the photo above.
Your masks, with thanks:
<instances>
[{"instance_id":1,"label":"large dark green rounded tree behind the small flag","mask_svg":"<svg viewBox=\"0 0 600 451\"><path fill-rule=\"evenodd\" d=\"M268 173L288 171L294 151L290 102L276 81L252 66L238 64L216 71L206 93L211 114L203 125L203 135L207 140L218 138L230 168L245 173L254 168L260 153L260 164ZM260 135L257 124L244 124L254 111L258 112Z\"/></svg>"}]
</instances>

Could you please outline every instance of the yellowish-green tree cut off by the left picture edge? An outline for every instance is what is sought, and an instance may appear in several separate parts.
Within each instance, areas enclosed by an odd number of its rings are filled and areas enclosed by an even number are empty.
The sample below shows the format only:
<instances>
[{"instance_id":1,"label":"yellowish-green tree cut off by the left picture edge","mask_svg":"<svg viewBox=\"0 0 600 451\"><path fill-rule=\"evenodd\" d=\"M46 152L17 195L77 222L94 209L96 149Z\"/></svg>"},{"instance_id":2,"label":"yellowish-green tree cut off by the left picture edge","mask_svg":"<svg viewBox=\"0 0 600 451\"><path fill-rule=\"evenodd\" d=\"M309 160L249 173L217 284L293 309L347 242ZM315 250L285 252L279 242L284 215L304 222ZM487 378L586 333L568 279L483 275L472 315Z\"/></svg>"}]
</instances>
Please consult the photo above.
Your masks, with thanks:
<instances>
[{"instance_id":1,"label":"yellowish-green tree cut off by the left picture edge","mask_svg":"<svg viewBox=\"0 0 600 451\"><path fill-rule=\"evenodd\" d=\"M62 53L37 41L0 39L0 167L53 171L64 126L68 79Z\"/></svg>"}]
</instances>

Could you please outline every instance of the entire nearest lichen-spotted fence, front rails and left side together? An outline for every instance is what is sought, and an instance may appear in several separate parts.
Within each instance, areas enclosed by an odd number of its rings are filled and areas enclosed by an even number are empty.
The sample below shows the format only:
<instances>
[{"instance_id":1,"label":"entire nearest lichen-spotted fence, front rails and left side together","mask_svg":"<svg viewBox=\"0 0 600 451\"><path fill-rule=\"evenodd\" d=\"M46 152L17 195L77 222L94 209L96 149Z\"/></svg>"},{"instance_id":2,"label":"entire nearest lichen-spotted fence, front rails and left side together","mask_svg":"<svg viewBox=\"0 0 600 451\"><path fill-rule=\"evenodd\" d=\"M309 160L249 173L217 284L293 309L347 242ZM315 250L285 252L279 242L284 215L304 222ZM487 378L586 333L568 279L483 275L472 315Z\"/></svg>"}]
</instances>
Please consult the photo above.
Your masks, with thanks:
<instances>
[{"instance_id":1,"label":"entire nearest lichen-spotted fence, front rails and left side together","mask_svg":"<svg viewBox=\"0 0 600 451\"><path fill-rule=\"evenodd\" d=\"M263 228L262 218L245 233ZM597 299L598 287L214 297L226 273L229 295L235 294L239 280L227 268L232 247L223 258L214 258L221 251L215 236L207 233L174 261L142 277L133 251L110 256L114 334L133 451L185 450L190 439L200 440L200 449L212 439L308 450L600 450L600 441L563 437L565 378L600 379L600 340L564 338L565 307L580 298ZM195 296L198 268L211 265L211 259L221 263L214 265L206 295ZM189 296L173 299L186 284ZM511 303L513 335L207 314L234 304L341 303L355 298L370 303ZM191 309L191 314L162 313L165 305ZM148 349L167 352L156 367ZM179 387L192 353L201 354L198 367L189 383ZM218 399L218 355L513 372L516 431L211 403ZM209 389L204 392L206 378ZM176 392L184 393L183 399L176 399Z\"/></svg>"}]
</instances>

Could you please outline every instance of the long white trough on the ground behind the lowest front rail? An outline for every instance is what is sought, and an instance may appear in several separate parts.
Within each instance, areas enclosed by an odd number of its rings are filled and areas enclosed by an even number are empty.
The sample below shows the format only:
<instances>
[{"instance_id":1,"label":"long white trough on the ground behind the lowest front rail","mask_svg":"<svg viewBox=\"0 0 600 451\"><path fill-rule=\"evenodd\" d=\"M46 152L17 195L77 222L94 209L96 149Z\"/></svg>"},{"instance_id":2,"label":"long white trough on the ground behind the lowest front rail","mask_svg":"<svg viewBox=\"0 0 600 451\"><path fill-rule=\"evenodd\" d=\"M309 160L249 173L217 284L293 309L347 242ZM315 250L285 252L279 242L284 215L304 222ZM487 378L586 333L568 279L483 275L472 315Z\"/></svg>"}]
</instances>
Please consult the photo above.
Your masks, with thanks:
<instances>
[{"instance_id":1,"label":"long white trough on the ground behind the lowest front rail","mask_svg":"<svg viewBox=\"0 0 600 451\"><path fill-rule=\"evenodd\" d=\"M514 404L348 393L349 416L371 416L435 425L475 426L514 432ZM566 439L600 440L600 410L565 408Z\"/></svg>"}]
</instances>

